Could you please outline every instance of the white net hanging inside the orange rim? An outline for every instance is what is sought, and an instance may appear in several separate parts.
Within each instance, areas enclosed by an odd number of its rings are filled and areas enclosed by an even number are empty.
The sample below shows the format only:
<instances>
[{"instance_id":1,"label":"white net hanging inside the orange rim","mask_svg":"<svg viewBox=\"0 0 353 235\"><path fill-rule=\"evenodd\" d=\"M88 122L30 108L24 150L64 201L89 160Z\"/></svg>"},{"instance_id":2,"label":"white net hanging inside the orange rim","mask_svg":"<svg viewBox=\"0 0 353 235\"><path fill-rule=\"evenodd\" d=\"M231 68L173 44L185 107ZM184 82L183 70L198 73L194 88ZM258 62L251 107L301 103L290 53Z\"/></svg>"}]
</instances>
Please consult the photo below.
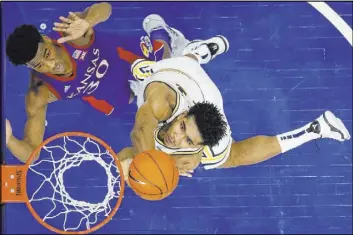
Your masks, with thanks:
<instances>
[{"instance_id":1,"label":"white net hanging inside the orange rim","mask_svg":"<svg viewBox=\"0 0 353 235\"><path fill-rule=\"evenodd\" d=\"M39 183L35 186L36 189L27 187L28 198L33 208L36 203L44 204L44 206L38 204L34 209L47 224L63 231L88 230L102 222L112 212L114 201L117 202L120 197L120 172L114 156L92 139L68 136L60 139L57 145L44 146L40 158L30 166L28 172L40 177L40 180L37 180ZM80 139L83 141L79 141ZM99 198L98 201L96 199L95 202L73 198L68 190L70 188L65 186L78 178L64 177L67 172L77 171L79 173L77 175L83 178L82 175L87 171L79 168L87 162L103 169L106 175L105 179L98 179L100 187L93 187L93 190L103 190L106 195L103 199ZM88 171L94 174L92 171L98 169ZM80 187L83 188L87 184L87 179L78 184L79 187L76 188L80 190Z\"/></svg>"}]
</instances>

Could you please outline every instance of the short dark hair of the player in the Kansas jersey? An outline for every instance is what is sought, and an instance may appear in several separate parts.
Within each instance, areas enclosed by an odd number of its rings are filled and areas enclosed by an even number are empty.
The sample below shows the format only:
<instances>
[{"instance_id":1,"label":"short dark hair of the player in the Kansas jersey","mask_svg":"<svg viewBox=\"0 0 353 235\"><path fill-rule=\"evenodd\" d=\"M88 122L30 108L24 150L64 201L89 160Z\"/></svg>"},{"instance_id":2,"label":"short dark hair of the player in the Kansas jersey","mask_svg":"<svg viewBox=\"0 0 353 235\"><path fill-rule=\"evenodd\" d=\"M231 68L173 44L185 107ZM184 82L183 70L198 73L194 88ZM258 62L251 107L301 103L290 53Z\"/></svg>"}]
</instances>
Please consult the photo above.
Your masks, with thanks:
<instances>
[{"instance_id":1,"label":"short dark hair of the player in the Kansas jersey","mask_svg":"<svg viewBox=\"0 0 353 235\"><path fill-rule=\"evenodd\" d=\"M8 37L6 55L14 65L23 65L31 61L43 38L33 25L21 25Z\"/></svg>"}]
</instances>

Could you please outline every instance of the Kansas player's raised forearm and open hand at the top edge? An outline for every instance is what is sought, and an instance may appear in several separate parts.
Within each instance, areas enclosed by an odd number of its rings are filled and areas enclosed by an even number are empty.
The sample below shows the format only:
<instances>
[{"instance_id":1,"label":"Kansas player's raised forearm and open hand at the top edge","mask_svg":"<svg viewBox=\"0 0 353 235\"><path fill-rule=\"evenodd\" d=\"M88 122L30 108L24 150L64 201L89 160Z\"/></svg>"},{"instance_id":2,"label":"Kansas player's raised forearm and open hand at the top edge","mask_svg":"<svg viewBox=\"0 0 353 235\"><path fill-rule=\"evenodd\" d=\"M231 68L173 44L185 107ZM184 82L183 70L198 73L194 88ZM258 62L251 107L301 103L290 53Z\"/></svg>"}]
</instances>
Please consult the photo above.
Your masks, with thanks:
<instances>
[{"instance_id":1,"label":"Kansas player's raised forearm and open hand at the top edge","mask_svg":"<svg viewBox=\"0 0 353 235\"><path fill-rule=\"evenodd\" d=\"M53 30L63 32L64 37L58 39L58 43L72 41L84 46L89 44L93 34L93 27L109 19L112 7L109 3L96 3L84 12L70 12L67 18L60 16L61 23L54 23Z\"/></svg>"}]
</instances>

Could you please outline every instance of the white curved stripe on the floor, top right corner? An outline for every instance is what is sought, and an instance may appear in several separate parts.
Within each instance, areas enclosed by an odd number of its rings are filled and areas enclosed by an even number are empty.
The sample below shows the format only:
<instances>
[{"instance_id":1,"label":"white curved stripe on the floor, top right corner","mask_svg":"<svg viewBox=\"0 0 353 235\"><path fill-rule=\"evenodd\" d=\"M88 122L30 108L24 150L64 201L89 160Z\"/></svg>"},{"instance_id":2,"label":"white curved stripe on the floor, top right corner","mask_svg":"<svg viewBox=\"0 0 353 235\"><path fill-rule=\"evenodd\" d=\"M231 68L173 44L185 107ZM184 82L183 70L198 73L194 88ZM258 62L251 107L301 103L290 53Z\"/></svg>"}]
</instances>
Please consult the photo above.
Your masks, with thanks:
<instances>
[{"instance_id":1,"label":"white curved stripe on the floor, top right corner","mask_svg":"<svg viewBox=\"0 0 353 235\"><path fill-rule=\"evenodd\" d=\"M324 2L308 2L316 10L330 21L333 26L340 31L340 33L347 39L349 44L353 46L353 32L349 25L326 3Z\"/></svg>"}]
</instances>

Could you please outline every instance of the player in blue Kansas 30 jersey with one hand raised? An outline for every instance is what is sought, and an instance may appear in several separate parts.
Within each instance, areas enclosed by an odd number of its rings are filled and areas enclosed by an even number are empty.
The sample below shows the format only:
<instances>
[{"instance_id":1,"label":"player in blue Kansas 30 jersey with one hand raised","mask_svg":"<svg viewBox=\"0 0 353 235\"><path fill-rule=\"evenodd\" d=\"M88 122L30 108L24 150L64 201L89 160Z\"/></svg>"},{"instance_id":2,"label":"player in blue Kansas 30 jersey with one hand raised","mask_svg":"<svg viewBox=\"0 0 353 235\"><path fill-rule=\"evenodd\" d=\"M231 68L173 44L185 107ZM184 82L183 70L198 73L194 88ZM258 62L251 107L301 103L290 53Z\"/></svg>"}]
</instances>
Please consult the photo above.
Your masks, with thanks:
<instances>
[{"instance_id":1,"label":"player in blue Kansas 30 jersey with one hand raised","mask_svg":"<svg viewBox=\"0 0 353 235\"><path fill-rule=\"evenodd\" d=\"M31 25L22 25L9 36L9 60L31 70L23 139L12 135L11 124L6 120L6 145L20 161L26 162L43 141L48 104L79 98L105 115L119 116L132 97L131 63L139 58L156 61L172 56L179 50L177 44L182 45L178 41L187 42L171 28L168 33L155 30L151 35L145 22L143 26L150 37L96 34L94 26L106 21L111 9L109 3L94 4L83 12L60 17L61 23L54 23L54 31L48 35L41 35ZM139 69L143 68L139 64Z\"/></svg>"}]
</instances>

